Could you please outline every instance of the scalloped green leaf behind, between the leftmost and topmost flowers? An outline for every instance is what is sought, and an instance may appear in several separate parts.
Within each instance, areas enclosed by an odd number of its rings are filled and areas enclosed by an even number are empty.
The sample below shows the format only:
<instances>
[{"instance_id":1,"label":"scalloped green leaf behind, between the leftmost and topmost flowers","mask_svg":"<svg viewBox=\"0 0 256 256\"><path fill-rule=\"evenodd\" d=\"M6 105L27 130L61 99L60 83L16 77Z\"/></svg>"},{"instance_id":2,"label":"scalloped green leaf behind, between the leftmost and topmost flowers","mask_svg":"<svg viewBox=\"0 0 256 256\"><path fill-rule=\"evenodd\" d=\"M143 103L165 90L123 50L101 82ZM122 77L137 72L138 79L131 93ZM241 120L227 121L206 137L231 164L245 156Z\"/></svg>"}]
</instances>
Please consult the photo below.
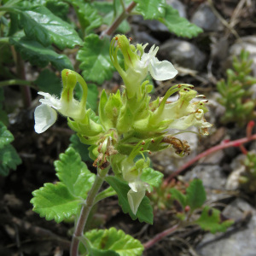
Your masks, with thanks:
<instances>
[{"instance_id":1,"label":"scalloped green leaf behind, between the leftmost and topmost flowers","mask_svg":"<svg viewBox=\"0 0 256 256\"><path fill-rule=\"evenodd\" d=\"M85 80L102 84L112 78L115 69L110 61L109 46L108 38L101 40L95 34L85 38L84 47L79 49L77 55Z\"/></svg>"}]
</instances>

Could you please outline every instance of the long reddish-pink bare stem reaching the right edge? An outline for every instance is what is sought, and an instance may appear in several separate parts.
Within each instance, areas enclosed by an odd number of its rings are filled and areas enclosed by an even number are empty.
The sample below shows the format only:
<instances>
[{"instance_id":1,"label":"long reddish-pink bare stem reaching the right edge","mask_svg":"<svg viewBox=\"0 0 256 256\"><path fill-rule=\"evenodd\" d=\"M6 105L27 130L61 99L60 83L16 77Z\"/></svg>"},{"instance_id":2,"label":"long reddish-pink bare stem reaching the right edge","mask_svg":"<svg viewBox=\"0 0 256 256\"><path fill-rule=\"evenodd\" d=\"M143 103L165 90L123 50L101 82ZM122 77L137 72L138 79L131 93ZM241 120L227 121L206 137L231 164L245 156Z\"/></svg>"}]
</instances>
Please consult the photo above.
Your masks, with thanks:
<instances>
[{"instance_id":1,"label":"long reddish-pink bare stem reaching the right edge","mask_svg":"<svg viewBox=\"0 0 256 256\"><path fill-rule=\"evenodd\" d=\"M169 177L166 177L165 183L170 182L173 177L176 177L180 172L183 172L189 166L192 166L197 160L200 160L202 157L206 157L207 155L212 154L213 152L218 151L220 149L230 148L230 147L240 147L241 144L248 143L253 140L256 140L256 134L253 134L250 137L243 137L236 141L231 141L228 143L227 142L220 143L215 147L209 148L206 151L202 152L201 154L197 154L195 156L195 158L193 158L192 160L189 160L185 165L183 165L179 169L177 169L176 172L172 172L172 174Z\"/></svg>"}]
</instances>

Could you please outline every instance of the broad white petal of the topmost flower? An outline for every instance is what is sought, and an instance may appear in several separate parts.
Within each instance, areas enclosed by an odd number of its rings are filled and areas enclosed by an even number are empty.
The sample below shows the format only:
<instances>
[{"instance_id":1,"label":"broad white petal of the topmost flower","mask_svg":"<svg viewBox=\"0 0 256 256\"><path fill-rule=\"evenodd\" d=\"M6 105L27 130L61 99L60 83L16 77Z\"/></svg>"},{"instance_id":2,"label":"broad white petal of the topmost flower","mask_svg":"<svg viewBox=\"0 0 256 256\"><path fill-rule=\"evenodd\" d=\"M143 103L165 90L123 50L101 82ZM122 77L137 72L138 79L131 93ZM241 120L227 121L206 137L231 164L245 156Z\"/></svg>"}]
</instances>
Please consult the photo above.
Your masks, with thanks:
<instances>
[{"instance_id":1,"label":"broad white petal of the topmost flower","mask_svg":"<svg viewBox=\"0 0 256 256\"><path fill-rule=\"evenodd\" d=\"M159 61L156 57L152 57L148 69L153 79L157 81L173 79L177 75L177 70L171 62Z\"/></svg>"}]
</instances>

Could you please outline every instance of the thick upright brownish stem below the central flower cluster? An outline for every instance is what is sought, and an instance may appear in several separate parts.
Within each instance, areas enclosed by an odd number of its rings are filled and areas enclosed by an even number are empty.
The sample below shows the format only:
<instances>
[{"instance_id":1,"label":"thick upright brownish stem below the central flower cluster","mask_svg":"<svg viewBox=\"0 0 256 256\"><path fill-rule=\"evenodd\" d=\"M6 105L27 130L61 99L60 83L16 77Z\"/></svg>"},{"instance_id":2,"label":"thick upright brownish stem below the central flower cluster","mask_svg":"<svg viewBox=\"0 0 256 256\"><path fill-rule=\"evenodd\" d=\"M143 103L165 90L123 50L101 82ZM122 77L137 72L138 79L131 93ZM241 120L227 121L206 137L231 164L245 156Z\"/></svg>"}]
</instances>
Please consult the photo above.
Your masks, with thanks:
<instances>
[{"instance_id":1,"label":"thick upright brownish stem below the central flower cluster","mask_svg":"<svg viewBox=\"0 0 256 256\"><path fill-rule=\"evenodd\" d=\"M103 170L98 169L98 173L96 175L95 182L93 183L86 200L84 201L84 205L81 209L79 220L76 224L75 230L73 232L73 239L70 247L70 256L79 255L79 241L81 237L84 235L84 227L87 222L90 209L94 205L94 201L99 189L102 187L102 183L104 182L104 177L107 175L109 167ZM89 250L89 243L85 244L87 246L87 250Z\"/></svg>"}]
</instances>

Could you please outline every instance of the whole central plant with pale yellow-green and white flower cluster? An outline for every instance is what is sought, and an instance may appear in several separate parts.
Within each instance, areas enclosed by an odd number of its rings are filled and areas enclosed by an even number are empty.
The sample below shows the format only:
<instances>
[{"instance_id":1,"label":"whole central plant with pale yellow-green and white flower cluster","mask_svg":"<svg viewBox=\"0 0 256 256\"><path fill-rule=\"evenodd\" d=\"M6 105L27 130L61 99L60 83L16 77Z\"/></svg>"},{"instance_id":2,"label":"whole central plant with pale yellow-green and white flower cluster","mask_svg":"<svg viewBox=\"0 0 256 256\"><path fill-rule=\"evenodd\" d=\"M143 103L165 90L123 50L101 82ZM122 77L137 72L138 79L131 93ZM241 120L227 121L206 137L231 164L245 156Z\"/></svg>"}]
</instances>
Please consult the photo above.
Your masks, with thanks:
<instances>
[{"instance_id":1,"label":"whole central plant with pale yellow-green and white flower cluster","mask_svg":"<svg viewBox=\"0 0 256 256\"><path fill-rule=\"evenodd\" d=\"M78 254L80 242L91 255L102 251L102 247L96 245L96 236L110 235L102 234L100 230L84 234L84 225L91 207L110 195L118 195L123 212L129 213L132 219L152 224L152 207L145 193L160 184L163 174L150 167L148 154L170 146L177 154L187 154L188 143L175 137L172 129L183 131L195 125L201 134L207 134L207 128L211 126L204 119L207 112L205 97L197 96L189 84L174 85L163 98L151 101L149 92L153 86L148 80L144 81L147 74L158 80L172 79L177 70L169 61L157 60L158 48L153 46L146 53L146 46L137 44L135 47L123 35L113 38L110 57L125 86L122 91L109 96L105 90L102 91L98 116L92 109L85 108L87 84L71 70L64 69L61 73L63 90L60 99L39 92L44 99L40 100L41 105L35 110L35 131L47 130L55 122L55 111L61 113L67 117L68 125L77 132L80 141L90 145L90 158L97 168L96 175L91 173L73 148L68 148L65 154L61 154L61 160L55 162L60 182L46 183L44 188L33 192L33 210L41 217L61 222L75 216L71 255ZM124 56L125 68L119 64L118 51ZM83 90L80 102L73 99L77 83ZM177 101L168 102L168 98L176 92L179 94ZM198 97L202 99L196 101ZM137 159L137 156L141 158ZM110 168L112 174L108 173ZM103 182L107 182L109 188L99 193ZM121 239L118 232L108 232ZM141 255L142 244L135 239L132 242L137 247L132 255ZM104 248L104 251L119 253L117 248L112 247Z\"/></svg>"}]
</instances>

